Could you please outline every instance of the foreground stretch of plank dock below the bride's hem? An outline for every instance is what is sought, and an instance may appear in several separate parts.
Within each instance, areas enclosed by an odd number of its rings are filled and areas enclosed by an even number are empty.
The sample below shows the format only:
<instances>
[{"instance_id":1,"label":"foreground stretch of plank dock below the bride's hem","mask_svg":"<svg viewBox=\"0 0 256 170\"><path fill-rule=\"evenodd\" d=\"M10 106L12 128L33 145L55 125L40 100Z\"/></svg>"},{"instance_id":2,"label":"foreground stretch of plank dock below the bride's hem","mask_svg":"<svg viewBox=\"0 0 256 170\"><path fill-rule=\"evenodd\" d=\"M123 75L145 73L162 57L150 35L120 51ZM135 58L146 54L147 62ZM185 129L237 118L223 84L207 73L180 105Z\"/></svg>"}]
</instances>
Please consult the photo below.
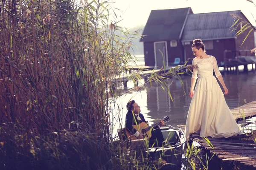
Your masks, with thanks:
<instances>
[{"instance_id":1,"label":"foreground stretch of plank dock below the bride's hem","mask_svg":"<svg viewBox=\"0 0 256 170\"><path fill-rule=\"evenodd\" d=\"M201 144L201 147L204 147L208 156L214 154L221 161L220 165L223 170L234 166L243 170L255 170L256 144L253 140L248 140L248 138L249 136L247 135L231 137L229 139L208 138L213 148L197 134L192 134L190 139Z\"/></svg>"}]
</instances>

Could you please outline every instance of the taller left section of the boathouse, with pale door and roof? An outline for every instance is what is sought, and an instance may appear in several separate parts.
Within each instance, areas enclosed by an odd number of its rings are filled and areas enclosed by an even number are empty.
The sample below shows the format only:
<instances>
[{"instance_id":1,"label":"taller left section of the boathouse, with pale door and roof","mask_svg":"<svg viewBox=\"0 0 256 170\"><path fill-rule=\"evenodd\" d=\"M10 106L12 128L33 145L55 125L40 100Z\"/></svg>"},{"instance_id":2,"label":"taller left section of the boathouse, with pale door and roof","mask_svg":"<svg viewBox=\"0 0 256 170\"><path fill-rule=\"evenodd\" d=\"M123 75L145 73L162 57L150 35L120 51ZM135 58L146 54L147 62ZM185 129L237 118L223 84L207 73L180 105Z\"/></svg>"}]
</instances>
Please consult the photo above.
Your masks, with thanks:
<instances>
[{"instance_id":1,"label":"taller left section of the boathouse, with pale door and roof","mask_svg":"<svg viewBox=\"0 0 256 170\"><path fill-rule=\"evenodd\" d=\"M191 8L152 10L143 30L144 57L147 66L169 66L183 62L181 36Z\"/></svg>"}]
</instances>

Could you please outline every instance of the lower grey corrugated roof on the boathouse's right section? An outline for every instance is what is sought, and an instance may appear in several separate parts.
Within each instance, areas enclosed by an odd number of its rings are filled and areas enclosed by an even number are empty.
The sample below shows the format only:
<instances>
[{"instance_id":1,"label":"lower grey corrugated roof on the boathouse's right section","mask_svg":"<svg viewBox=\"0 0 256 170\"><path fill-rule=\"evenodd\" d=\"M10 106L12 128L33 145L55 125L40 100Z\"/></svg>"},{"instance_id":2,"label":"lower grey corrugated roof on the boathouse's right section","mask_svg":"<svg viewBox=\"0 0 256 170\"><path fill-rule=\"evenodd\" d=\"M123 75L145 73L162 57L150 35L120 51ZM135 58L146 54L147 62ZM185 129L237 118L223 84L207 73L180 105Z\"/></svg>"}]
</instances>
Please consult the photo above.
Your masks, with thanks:
<instances>
[{"instance_id":1,"label":"lower grey corrugated roof on the boathouse's right section","mask_svg":"<svg viewBox=\"0 0 256 170\"><path fill-rule=\"evenodd\" d=\"M212 12L203 14L189 14L182 33L181 41L216 40L235 38L236 31L230 28L234 18L230 14L239 14L241 11ZM240 29L240 28L239 28Z\"/></svg>"}]
</instances>

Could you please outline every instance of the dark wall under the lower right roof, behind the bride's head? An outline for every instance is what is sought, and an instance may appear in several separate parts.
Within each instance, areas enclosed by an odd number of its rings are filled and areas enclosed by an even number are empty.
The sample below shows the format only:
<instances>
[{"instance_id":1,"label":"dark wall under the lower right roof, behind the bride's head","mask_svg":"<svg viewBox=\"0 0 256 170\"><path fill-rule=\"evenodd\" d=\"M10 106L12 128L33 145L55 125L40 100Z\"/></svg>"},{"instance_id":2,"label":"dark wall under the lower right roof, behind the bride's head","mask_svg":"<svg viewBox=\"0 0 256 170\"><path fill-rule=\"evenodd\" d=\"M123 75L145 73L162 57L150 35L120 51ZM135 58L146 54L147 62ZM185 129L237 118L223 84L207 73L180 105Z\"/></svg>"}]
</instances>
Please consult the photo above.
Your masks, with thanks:
<instances>
[{"instance_id":1,"label":"dark wall under the lower right roof, behind the bride's head","mask_svg":"<svg viewBox=\"0 0 256 170\"><path fill-rule=\"evenodd\" d=\"M204 40L203 40L204 42ZM194 58L192 52L192 42L190 42L190 45L185 45L186 50L186 59L188 58ZM206 47L206 53L209 55L214 56L217 59L217 62L224 62L224 51L225 50L235 50L235 40L234 39L223 39L223 40L213 40L213 49L207 50ZM231 53L227 53L227 57L231 58Z\"/></svg>"}]
</instances>

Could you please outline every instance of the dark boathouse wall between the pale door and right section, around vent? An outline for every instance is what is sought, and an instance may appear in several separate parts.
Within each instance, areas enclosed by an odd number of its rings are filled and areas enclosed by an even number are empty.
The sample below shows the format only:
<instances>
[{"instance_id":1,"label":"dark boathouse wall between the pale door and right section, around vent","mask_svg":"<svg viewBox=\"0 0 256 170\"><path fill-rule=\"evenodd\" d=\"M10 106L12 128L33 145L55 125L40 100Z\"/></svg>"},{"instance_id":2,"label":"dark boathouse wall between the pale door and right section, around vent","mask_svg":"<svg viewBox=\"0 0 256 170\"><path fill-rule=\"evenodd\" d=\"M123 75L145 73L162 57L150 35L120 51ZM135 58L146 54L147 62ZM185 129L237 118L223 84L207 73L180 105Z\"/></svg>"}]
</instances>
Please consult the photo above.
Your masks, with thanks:
<instances>
[{"instance_id":1,"label":"dark boathouse wall between the pale door and right section, around vent","mask_svg":"<svg viewBox=\"0 0 256 170\"><path fill-rule=\"evenodd\" d=\"M171 47L170 41L167 41L167 50L168 50L168 62L169 65L174 62L175 58L180 58L180 61L183 61L183 48L180 43L180 40L177 40L177 47Z\"/></svg>"}]
</instances>

